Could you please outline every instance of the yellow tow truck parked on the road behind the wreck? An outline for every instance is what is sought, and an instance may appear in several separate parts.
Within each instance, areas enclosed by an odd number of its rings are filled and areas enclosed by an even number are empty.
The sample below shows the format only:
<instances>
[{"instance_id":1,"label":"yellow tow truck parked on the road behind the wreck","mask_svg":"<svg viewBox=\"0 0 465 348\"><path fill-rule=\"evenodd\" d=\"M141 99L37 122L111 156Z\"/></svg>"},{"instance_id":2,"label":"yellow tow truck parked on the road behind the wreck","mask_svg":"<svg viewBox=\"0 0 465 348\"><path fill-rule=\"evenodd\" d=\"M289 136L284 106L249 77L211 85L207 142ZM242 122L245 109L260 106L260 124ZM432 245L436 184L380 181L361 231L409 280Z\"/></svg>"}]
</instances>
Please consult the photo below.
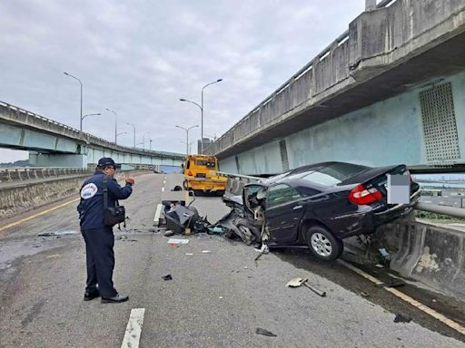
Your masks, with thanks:
<instances>
[{"instance_id":1,"label":"yellow tow truck parked on the road behind the wreck","mask_svg":"<svg viewBox=\"0 0 465 348\"><path fill-rule=\"evenodd\" d=\"M218 174L218 159L208 155L189 155L183 162L184 189L224 193L226 177Z\"/></svg>"}]
</instances>

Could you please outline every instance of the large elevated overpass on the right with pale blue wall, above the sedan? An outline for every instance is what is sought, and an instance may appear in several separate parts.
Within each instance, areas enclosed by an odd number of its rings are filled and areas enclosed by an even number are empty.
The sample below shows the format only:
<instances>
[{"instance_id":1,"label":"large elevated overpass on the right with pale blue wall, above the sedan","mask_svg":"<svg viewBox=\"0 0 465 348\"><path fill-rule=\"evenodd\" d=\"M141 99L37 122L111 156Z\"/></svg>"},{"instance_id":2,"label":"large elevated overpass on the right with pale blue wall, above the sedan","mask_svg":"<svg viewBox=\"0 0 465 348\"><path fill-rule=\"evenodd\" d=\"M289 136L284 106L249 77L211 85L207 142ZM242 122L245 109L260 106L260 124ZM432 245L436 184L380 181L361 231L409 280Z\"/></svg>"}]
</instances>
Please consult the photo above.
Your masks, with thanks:
<instances>
[{"instance_id":1,"label":"large elevated overpass on the right with pale blue wall, above the sedan","mask_svg":"<svg viewBox=\"0 0 465 348\"><path fill-rule=\"evenodd\" d=\"M381 1L207 152L242 174L463 164L464 32L463 1Z\"/></svg>"}]
</instances>

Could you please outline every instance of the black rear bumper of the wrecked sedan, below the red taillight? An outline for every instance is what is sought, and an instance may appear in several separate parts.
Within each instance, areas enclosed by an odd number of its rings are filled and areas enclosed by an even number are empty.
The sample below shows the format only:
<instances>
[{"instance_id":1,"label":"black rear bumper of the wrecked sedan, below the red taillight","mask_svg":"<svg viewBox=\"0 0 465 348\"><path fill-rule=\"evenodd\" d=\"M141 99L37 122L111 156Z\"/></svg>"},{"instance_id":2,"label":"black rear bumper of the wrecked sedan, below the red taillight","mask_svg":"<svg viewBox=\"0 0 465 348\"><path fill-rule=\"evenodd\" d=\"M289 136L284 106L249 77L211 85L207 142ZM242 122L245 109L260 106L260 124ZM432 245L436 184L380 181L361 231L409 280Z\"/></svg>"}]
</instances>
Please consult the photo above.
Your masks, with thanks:
<instances>
[{"instance_id":1,"label":"black rear bumper of the wrecked sedan, below the red taillight","mask_svg":"<svg viewBox=\"0 0 465 348\"><path fill-rule=\"evenodd\" d=\"M411 203L397 204L386 208L386 206L362 208L351 214L341 215L331 218L327 221L329 227L341 239L369 234L375 231L377 227L387 224L392 220L408 215L420 199L420 190L411 195Z\"/></svg>"}]
</instances>

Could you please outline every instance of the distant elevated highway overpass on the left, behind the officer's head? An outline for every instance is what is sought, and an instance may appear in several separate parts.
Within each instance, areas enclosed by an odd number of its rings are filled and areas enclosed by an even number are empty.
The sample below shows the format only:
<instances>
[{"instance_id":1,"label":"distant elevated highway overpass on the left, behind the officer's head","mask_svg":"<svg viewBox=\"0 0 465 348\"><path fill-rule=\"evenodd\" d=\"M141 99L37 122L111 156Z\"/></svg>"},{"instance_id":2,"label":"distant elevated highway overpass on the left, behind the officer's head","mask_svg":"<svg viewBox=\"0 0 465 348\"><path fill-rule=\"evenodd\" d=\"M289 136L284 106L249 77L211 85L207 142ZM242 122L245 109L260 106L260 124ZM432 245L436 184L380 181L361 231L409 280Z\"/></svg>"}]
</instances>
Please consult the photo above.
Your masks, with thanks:
<instances>
[{"instance_id":1,"label":"distant elevated highway overpass on the left, behind the officer's head","mask_svg":"<svg viewBox=\"0 0 465 348\"><path fill-rule=\"evenodd\" d=\"M28 150L37 167L94 167L102 157L129 165L180 166L183 154L128 148L0 102L0 147Z\"/></svg>"}]
</instances>

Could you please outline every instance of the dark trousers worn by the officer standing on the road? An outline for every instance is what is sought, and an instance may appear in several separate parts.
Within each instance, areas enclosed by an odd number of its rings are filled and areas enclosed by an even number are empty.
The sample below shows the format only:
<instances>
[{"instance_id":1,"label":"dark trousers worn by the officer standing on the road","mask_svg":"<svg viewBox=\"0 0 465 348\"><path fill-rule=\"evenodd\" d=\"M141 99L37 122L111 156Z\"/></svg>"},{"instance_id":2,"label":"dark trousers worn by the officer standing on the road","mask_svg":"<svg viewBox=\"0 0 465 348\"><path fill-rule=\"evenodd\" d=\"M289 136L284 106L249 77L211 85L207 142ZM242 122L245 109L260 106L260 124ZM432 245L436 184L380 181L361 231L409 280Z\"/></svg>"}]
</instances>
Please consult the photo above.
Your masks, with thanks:
<instances>
[{"instance_id":1,"label":"dark trousers worn by the officer standing on the road","mask_svg":"<svg viewBox=\"0 0 465 348\"><path fill-rule=\"evenodd\" d=\"M114 234L112 227L81 230L85 241L87 264L87 285L85 290L97 289L103 297L113 297L118 293L113 285Z\"/></svg>"}]
</instances>

